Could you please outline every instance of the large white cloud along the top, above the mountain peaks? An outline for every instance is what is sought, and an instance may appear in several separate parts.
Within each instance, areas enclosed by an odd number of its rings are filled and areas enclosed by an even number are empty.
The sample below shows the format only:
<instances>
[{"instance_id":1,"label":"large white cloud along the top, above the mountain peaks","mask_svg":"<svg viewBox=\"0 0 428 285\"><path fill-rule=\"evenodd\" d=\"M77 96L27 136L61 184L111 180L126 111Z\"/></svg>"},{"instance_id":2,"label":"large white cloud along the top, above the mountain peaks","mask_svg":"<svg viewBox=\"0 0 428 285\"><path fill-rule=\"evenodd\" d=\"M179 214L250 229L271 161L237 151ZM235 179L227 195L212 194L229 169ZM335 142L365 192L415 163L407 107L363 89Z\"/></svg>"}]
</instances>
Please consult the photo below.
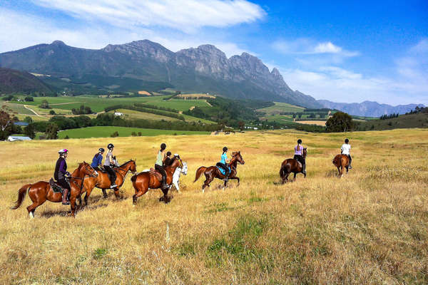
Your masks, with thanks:
<instances>
[{"instance_id":1,"label":"large white cloud along the top, above the mountain peaks","mask_svg":"<svg viewBox=\"0 0 428 285\"><path fill-rule=\"evenodd\" d=\"M257 4L245 0L33 0L78 19L111 26L165 26L192 32L203 26L227 27L265 16Z\"/></svg>"}]
</instances>

